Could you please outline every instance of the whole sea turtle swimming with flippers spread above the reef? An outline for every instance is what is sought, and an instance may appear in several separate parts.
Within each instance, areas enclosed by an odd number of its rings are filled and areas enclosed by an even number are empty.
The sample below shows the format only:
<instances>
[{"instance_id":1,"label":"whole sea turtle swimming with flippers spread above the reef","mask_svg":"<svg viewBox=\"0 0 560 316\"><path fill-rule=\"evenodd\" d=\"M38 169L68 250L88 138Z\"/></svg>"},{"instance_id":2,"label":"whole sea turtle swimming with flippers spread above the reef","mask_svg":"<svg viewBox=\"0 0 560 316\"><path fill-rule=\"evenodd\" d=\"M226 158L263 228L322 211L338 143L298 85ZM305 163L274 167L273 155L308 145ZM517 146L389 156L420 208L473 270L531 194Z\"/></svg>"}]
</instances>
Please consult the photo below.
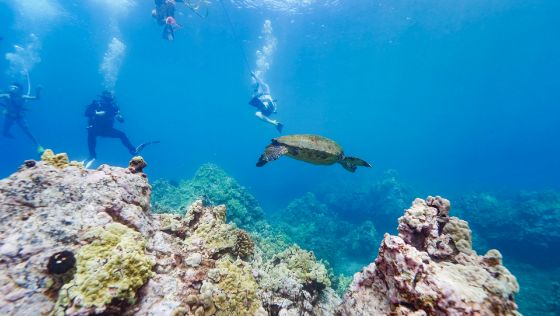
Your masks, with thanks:
<instances>
[{"instance_id":1,"label":"whole sea turtle swimming with flippers spread above the reef","mask_svg":"<svg viewBox=\"0 0 560 316\"><path fill-rule=\"evenodd\" d=\"M350 172L356 171L357 166L371 167L360 158L345 157L340 145L318 135L287 135L272 139L259 158L257 167L262 167L283 155L316 165L332 165L338 162Z\"/></svg>"}]
</instances>

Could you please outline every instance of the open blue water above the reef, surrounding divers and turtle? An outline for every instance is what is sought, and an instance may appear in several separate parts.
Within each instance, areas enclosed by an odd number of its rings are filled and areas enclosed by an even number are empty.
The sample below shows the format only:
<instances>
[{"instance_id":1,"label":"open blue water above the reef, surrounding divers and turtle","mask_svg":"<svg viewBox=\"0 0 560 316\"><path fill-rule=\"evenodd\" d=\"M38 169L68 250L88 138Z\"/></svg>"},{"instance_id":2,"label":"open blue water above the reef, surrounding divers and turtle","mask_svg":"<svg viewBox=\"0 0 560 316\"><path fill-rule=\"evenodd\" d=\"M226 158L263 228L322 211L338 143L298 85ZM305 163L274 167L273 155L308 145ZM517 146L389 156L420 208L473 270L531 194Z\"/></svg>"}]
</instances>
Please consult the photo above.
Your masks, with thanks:
<instances>
[{"instance_id":1,"label":"open blue water above the reef, surrounding divers and turtle","mask_svg":"<svg viewBox=\"0 0 560 316\"><path fill-rule=\"evenodd\" d=\"M27 118L44 147L72 159L87 158L83 111L103 89L99 67L117 37L127 47L117 127L135 144L161 140L143 152L151 179L188 178L214 162L265 210L388 169L425 194L560 189L559 1L225 1L232 28L217 0L205 19L179 7L174 42L161 39L151 1L61 1L50 19L36 17L56 1L26 1L23 14L16 2L0 1L0 53L37 34L31 79L44 93ZM255 167L278 136L247 104L244 55L254 69L267 19L277 47L265 79L285 134L327 136L374 168L350 174L285 158ZM0 59L2 87L14 80L9 66ZM37 156L14 135L0 139L2 177ZM130 158L117 140L99 140L97 151L100 163Z\"/></svg>"}]
</instances>

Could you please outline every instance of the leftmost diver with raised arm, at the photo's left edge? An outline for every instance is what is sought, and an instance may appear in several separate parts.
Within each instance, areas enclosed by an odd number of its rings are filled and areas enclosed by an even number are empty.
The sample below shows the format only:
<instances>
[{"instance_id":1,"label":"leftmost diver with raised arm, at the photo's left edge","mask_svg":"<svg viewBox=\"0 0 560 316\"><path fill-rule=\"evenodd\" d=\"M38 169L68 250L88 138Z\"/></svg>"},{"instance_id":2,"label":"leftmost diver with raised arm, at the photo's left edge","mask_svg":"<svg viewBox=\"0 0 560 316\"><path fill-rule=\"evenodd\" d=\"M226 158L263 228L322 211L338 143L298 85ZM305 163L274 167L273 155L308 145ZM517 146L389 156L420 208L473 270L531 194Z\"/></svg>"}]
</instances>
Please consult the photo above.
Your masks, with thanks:
<instances>
[{"instance_id":1,"label":"leftmost diver with raised arm, at the photo's left edge","mask_svg":"<svg viewBox=\"0 0 560 316\"><path fill-rule=\"evenodd\" d=\"M13 83L8 87L8 93L1 93L0 94L0 105L4 107L4 128L2 130L2 136L6 138L14 138L12 134L10 134L10 130L14 123L17 123L21 130L27 135L27 137L33 142L33 144L37 147L37 152L42 154L45 150L31 131L29 130L29 126L27 125L27 121L24 117L24 112L27 111L25 108L25 102L27 100L39 100L41 98L41 86L37 86L35 88L35 96L31 96L28 94L23 93L23 87L19 83Z\"/></svg>"}]
</instances>

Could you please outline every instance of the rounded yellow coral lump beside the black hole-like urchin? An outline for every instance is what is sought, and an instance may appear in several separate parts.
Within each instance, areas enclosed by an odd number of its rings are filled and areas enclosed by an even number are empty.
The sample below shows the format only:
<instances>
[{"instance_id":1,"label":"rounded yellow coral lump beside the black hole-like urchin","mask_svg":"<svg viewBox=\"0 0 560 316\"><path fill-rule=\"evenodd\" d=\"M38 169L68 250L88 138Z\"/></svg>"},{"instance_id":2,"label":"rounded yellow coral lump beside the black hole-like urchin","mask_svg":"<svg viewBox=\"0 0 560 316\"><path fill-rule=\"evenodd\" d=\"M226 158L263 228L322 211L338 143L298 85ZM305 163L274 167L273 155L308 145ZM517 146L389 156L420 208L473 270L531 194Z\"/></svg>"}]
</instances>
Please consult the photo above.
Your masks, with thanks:
<instances>
[{"instance_id":1,"label":"rounded yellow coral lump beside the black hole-like urchin","mask_svg":"<svg viewBox=\"0 0 560 316\"><path fill-rule=\"evenodd\" d=\"M113 299L135 302L136 290L152 276L154 262L144 253L142 235L112 223L86 233L93 241L77 253L74 279L59 292L57 312L73 308L103 308Z\"/></svg>"}]
</instances>

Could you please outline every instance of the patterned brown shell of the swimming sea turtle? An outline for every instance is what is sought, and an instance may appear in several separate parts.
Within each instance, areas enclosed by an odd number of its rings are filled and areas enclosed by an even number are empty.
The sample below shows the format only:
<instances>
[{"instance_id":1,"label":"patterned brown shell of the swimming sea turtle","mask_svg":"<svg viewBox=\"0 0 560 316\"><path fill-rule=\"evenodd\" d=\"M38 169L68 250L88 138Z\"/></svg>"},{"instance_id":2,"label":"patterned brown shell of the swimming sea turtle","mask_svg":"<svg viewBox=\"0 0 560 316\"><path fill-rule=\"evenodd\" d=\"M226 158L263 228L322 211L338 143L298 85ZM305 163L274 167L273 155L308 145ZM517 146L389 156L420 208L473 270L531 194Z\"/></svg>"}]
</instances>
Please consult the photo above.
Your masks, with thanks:
<instances>
[{"instance_id":1,"label":"patterned brown shell of the swimming sea turtle","mask_svg":"<svg viewBox=\"0 0 560 316\"><path fill-rule=\"evenodd\" d=\"M288 135L275 138L272 142L286 146L287 156L314 164L330 165L344 156L340 145L318 135Z\"/></svg>"}]
</instances>

